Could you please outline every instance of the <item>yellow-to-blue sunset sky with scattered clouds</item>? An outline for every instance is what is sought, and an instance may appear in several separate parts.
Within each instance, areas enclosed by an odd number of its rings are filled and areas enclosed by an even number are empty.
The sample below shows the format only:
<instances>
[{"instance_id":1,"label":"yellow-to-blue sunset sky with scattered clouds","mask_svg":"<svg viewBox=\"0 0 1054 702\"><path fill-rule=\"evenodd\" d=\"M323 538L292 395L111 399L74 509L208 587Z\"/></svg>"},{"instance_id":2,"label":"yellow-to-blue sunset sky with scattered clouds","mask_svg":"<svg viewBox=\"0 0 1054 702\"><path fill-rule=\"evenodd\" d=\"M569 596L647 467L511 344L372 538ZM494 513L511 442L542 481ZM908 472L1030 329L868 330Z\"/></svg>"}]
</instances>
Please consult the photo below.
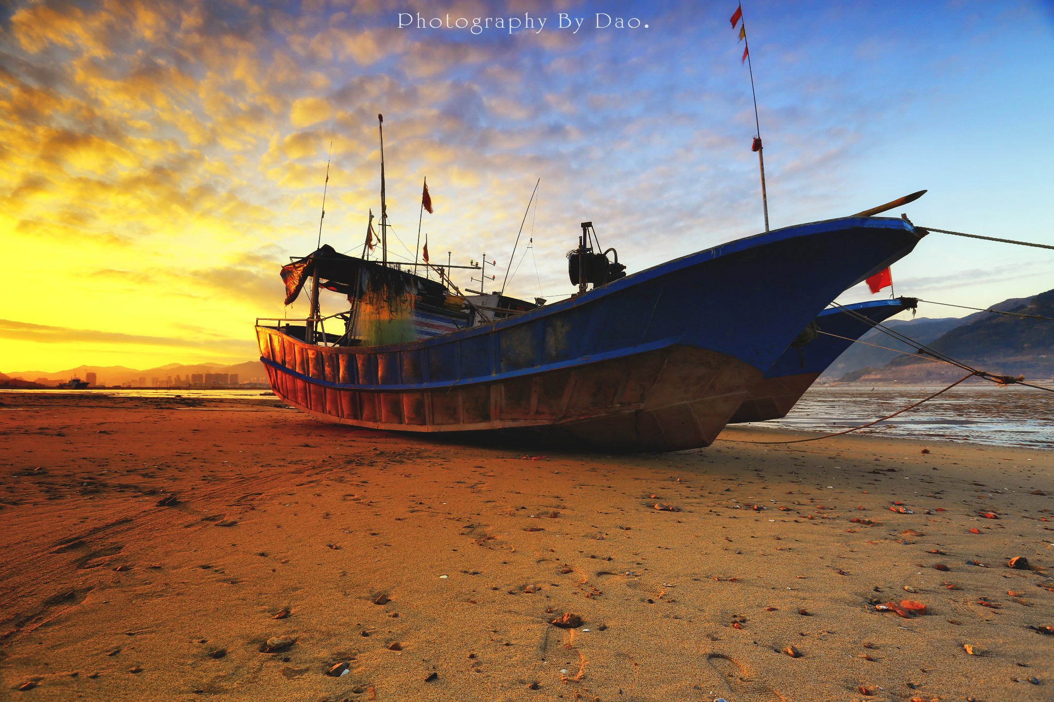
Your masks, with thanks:
<instances>
[{"instance_id":1,"label":"yellow-to-blue sunset sky with scattered clouds","mask_svg":"<svg viewBox=\"0 0 1054 702\"><path fill-rule=\"evenodd\" d=\"M413 258L426 176L432 259L486 254L488 289L540 179L507 286L527 299L572 292L564 254L584 220L628 273L758 234L735 9L4 3L0 372L257 357L257 317L307 313L282 306L278 268L314 249L324 186L323 242L362 250L379 213L378 113L393 260ZM916 224L1054 244L1050 0L752 0L743 14L773 228L929 188L902 208ZM1054 252L940 234L893 266L897 295L974 307L1054 287L1052 272ZM474 287L469 275L454 280Z\"/></svg>"}]
</instances>

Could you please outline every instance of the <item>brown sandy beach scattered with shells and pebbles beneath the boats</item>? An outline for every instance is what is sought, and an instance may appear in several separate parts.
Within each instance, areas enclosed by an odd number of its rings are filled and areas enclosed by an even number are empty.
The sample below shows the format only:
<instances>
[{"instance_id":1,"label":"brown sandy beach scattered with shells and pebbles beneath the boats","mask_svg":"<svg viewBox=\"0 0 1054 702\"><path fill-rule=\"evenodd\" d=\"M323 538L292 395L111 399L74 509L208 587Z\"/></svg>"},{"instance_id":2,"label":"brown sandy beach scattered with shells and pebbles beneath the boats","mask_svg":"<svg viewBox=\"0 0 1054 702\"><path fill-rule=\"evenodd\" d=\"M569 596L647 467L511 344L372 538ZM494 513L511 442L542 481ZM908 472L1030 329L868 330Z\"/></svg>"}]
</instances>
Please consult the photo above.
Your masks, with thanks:
<instances>
[{"instance_id":1,"label":"brown sandy beach scattered with shells and pebbles beneath the boats","mask_svg":"<svg viewBox=\"0 0 1054 702\"><path fill-rule=\"evenodd\" d=\"M0 402L0 699L1054 696L1052 452L740 427L607 456L273 398ZM904 599L926 614L874 606Z\"/></svg>"}]
</instances>

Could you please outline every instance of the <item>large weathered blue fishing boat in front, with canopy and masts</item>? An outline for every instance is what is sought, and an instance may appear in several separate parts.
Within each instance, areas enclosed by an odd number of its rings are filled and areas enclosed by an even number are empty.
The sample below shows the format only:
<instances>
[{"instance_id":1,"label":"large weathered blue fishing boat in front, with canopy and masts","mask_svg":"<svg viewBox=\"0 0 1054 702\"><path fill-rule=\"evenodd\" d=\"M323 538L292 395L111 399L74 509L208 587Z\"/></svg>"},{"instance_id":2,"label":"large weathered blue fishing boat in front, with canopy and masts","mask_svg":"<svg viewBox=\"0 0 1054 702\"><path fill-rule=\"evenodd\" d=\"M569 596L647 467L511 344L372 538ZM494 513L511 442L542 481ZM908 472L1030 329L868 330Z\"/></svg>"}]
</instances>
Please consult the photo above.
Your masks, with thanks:
<instances>
[{"instance_id":1,"label":"large weathered blue fishing boat in front, with canopy and masts","mask_svg":"<svg viewBox=\"0 0 1054 702\"><path fill-rule=\"evenodd\" d=\"M821 309L924 235L906 219L873 216L902 198L627 276L583 222L567 257L578 286L569 299L532 304L504 286L488 296L485 275L465 295L450 278L458 266L429 263L427 237L423 263L388 260L377 118L380 260L369 259L372 213L360 256L321 244L324 188L315 250L280 272L286 304L307 289L310 316L256 320L275 394L325 421L621 452L707 446ZM422 197L431 212L427 181ZM438 280L418 275L422 265ZM324 289L347 296L348 309L323 317Z\"/></svg>"}]
</instances>

